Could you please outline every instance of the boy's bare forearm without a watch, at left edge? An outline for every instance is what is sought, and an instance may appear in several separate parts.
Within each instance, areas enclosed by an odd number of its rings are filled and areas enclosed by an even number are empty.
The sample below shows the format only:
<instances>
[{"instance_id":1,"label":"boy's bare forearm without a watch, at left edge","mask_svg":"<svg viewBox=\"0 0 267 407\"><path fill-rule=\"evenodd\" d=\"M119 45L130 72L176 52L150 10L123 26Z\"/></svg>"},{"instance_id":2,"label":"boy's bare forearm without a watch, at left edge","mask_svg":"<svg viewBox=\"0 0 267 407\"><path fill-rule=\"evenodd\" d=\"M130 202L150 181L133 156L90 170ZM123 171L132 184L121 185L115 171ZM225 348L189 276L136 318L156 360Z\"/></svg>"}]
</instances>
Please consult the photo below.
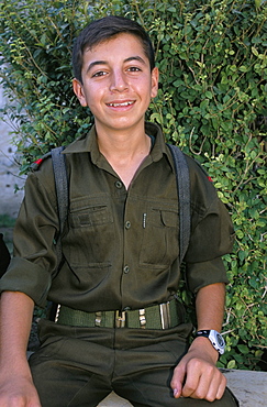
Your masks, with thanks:
<instances>
[{"instance_id":1,"label":"boy's bare forearm without a watch, at left edge","mask_svg":"<svg viewBox=\"0 0 267 407\"><path fill-rule=\"evenodd\" d=\"M26 346L34 304L22 293L4 292L0 300L0 362L9 370L29 370Z\"/></svg>"}]
</instances>

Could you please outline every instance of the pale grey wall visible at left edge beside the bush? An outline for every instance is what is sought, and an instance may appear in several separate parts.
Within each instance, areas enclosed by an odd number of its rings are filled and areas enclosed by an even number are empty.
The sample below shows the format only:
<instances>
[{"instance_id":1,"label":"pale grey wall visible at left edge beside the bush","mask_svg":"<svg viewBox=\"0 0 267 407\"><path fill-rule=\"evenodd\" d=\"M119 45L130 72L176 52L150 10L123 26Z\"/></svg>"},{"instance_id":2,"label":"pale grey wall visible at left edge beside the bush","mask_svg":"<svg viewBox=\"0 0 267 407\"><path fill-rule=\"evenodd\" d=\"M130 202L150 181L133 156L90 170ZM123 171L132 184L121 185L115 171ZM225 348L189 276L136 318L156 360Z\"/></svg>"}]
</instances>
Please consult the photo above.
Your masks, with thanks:
<instances>
[{"instance_id":1,"label":"pale grey wall visible at left edge beside the bush","mask_svg":"<svg viewBox=\"0 0 267 407\"><path fill-rule=\"evenodd\" d=\"M0 86L0 108L7 99ZM23 188L24 177L19 176L19 165L15 163L15 146L12 145L11 125L0 119L0 215L15 218L23 199L23 190L14 194L15 185Z\"/></svg>"}]
</instances>

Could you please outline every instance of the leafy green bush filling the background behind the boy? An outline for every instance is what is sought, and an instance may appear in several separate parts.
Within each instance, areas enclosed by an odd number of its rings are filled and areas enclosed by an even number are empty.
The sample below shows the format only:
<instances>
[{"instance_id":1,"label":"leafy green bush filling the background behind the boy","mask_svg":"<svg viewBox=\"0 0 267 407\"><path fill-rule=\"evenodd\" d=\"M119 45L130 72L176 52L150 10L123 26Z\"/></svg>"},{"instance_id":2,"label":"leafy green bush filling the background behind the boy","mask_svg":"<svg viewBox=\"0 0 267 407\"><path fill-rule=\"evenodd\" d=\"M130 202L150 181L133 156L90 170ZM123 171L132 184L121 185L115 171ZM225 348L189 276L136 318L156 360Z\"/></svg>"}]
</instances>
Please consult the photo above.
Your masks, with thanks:
<instances>
[{"instance_id":1,"label":"leafy green bush filling the background behind the boy","mask_svg":"<svg viewBox=\"0 0 267 407\"><path fill-rule=\"evenodd\" d=\"M147 118L203 164L232 215L219 365L259 369L267 349L266 1L3 0L0 78L9 103L1 113L15 122L22 173L91 125L71 90L70 53L81 28L107 14L136 19L149 32L160 86ZM191 309L185 289L182 297Z\"/></svg>"}]
</instances>

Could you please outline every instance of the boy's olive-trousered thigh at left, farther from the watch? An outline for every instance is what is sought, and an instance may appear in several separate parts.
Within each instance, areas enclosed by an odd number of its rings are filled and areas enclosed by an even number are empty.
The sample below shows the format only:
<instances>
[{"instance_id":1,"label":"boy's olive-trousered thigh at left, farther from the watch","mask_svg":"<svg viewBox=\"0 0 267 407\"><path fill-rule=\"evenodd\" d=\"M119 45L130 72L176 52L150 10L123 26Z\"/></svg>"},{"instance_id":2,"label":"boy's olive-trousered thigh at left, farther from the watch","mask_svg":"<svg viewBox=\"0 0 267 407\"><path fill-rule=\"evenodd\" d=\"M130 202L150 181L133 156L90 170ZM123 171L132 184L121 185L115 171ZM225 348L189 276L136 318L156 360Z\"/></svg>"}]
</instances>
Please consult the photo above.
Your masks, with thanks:
<instances>
[{"instance_id":1,"label":"boy's olive-trousered thigh at left, farther from the watch","mask_svg":"<svg viewBox=\"0 0 267 407\"><path fill-rule=\"evenodd\" d=\"M34 353L30 366L42 407L97 406L111 392L113 355L102 348L65 338Z\"/></svg>"}]
</instances>

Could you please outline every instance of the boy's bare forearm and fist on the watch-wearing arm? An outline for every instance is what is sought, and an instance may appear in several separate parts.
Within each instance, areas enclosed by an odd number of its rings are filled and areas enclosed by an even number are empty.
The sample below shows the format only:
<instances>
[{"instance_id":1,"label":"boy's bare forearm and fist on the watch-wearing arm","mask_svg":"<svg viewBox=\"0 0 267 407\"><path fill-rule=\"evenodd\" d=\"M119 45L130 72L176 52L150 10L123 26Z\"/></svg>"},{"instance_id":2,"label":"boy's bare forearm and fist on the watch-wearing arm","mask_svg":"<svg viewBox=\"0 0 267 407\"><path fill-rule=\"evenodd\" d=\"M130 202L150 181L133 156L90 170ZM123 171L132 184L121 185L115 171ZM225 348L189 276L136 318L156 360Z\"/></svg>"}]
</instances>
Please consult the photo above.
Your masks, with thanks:
<instances>
[{"instance_id":1,"label":"boy's bare forearm and fist on the watch-wearing arm","mask_svg":"<svg viewBox=\"0 0 267 407\"><path fill-rule=\"evenodd\" d=\"M198 330L221 330L224 300L224 284L212 284L199 290L196 299ZM204 398L209 402L220 399L226 380L215 366L218 356L219 352L208 338L196 338L174 371L170 383L174 396Z\"/></svg>"}]
</instances>

